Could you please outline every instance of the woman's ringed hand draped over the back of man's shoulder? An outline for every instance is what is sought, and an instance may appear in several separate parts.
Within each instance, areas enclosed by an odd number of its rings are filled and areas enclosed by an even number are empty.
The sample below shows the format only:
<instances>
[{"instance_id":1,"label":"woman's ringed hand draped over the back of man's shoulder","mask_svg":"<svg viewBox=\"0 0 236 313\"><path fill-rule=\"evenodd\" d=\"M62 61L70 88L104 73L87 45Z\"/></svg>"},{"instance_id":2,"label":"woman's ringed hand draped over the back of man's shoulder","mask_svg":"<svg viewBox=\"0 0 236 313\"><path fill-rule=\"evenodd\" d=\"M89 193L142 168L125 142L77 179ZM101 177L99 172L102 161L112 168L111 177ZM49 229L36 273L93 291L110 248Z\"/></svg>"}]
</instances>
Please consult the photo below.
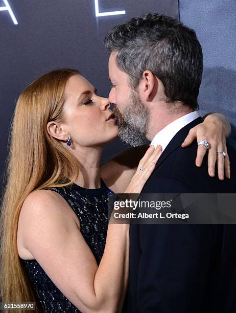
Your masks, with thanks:
<instances>
[{"instance_id":1,"label":"woman's ringed hand draped over the back of man's shoulder","mask_svg":"<svg viewBox=\"0 0 236 313\"><path fill-rule=\"evenodd\" d=\"M230 178L229 158L227 154L226 138L230 135L231 127L225 116L214 113L207 115L204 122L190 129L187 137L182 143L182 147L189 146L195 139L199 142L205 139L209 142L208 149L208 174L215 176L215 166L217 163L218 177L224 179L224 171L227 178ZM196 165L201 166L203 157L207 149L204 145L199 145L197 150ZM226 156L217 154L217 151L225 151Z\"/></svg>"}]
</instances>

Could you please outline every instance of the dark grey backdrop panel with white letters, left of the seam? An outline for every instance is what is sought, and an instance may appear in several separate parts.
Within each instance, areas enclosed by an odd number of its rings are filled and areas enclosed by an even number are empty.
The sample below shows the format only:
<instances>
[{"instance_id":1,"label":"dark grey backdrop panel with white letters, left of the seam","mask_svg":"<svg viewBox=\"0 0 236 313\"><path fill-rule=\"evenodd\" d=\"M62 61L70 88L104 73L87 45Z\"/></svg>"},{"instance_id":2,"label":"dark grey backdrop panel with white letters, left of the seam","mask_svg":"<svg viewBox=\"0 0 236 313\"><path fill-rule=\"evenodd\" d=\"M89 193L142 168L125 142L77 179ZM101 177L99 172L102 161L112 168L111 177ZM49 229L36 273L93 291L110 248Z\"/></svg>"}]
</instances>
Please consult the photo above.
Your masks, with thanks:
<instances>
[{"instance_id":1,"label":"dark grey backdrop panel with white letters, left of the seam","mask_svg":"<svg viewBox=\"0 0 236 313\"><path fill-rule=\"evenodd\" d=\"M108 96L108 54L103 40L116 24L145 12L179 17L177 0L0 0L10 11L0 11L1 34L1 156L0 174L6 160L9 123L20 92L41 74L56 68L76 68ZM119 140L107 145L104 162L125 145Z\"/></svg>"}]
</instances>

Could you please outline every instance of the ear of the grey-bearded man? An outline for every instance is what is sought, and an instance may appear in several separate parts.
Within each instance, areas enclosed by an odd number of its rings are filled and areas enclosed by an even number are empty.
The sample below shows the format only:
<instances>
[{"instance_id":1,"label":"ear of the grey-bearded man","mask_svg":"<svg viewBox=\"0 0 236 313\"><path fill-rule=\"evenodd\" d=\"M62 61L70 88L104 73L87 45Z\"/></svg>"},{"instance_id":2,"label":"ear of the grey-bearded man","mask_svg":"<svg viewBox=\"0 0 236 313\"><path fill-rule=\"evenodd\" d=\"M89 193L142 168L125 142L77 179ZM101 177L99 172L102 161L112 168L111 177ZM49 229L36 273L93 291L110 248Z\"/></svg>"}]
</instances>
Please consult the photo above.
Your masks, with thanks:
<instances>
[{"instance_id":1,"label":"ear of the grey-bearded man","mask_svg":"<svg viewBox=\"0 0 236 313\"><path fill-rule=\"evenodd\" d=\"M158 90L158 80L151 71L144 71L139 83L139 92L141 99L152 101Z\"/></svg>"}]
</instances>

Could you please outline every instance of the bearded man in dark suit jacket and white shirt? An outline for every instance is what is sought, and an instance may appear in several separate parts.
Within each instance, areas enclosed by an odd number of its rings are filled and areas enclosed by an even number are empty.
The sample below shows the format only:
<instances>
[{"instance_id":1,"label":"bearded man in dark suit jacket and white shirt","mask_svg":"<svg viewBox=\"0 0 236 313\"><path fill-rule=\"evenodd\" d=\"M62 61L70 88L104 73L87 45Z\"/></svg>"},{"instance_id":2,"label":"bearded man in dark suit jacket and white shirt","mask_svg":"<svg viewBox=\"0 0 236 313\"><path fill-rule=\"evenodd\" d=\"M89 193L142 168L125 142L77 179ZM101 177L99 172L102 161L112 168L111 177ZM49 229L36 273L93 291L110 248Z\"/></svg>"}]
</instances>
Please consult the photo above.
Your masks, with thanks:
<instances>
[{"instance_id":1,"label":"bearded man in dark suit jacket and white shirt","mask_svg":"<svg viewBox=\"0 0 236 313\"><path fill-rule=\"evenodd\" d=\"M158 14L132 18L107 35L111 53L111 103L120 137L137 146L162 146L143 193L235 193L236 152L231 179L220 181L194 164L197 143L182 148L188 131L202 122L197 97L202 50L194 30ZM204 138L203 138L204 140ZM206 149L207 142L201 142ZM205 146L205 147L204 147ZM144 171L145 169L141 168ZM234 225L132 225L128 312L233 312L236 309Z\"/></svg>"}]
</instances>

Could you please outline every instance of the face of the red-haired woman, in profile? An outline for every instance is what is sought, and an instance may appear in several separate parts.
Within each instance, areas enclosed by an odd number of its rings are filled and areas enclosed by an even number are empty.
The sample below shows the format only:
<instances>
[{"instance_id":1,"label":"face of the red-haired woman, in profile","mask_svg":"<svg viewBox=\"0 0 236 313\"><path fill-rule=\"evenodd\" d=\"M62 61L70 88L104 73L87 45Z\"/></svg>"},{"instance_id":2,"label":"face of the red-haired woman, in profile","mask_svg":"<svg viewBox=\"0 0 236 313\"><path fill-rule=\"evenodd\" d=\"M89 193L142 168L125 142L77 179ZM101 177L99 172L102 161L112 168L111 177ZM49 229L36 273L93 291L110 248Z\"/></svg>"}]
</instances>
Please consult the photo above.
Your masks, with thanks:
<instances>
[{"instance_id":1,"label":"face of the red-haired woman, in profile","mask_svg":"<svg viewBox=\"0 0 236 313\"><path fill-rule=\"evenodd\" d=\"M99 97L86 78L70 77L64 92L63 124L73 145L103 146L117 137L118 126L108 99Z\"/></svg>"}]
</instances>

